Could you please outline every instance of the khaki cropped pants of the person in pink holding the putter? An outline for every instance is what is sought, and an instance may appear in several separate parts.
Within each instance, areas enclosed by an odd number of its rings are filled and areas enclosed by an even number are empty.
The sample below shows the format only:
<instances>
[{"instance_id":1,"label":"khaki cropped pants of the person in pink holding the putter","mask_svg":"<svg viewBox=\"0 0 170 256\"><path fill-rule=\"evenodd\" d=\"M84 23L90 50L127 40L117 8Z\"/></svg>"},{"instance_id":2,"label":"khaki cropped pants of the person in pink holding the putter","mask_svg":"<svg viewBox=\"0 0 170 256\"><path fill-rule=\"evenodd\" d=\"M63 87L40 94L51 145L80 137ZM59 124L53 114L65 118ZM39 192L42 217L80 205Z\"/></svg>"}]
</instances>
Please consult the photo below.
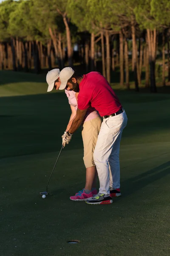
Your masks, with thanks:
<instances>
[{"instance_id":1,"label":"khaki cropped pants of the person in pink holding the putter","mask_svg":"<svg viewBox=\"0 0 170 256\"><path fill-rule=\"evenodd\" d=\"M85 168L96 166L94 163L93 153L96 146L97 137L100 131L102 119L100 116L84 122L82 126L82 140L84 145L84 163Z\"/></svg>"}]
</instances>

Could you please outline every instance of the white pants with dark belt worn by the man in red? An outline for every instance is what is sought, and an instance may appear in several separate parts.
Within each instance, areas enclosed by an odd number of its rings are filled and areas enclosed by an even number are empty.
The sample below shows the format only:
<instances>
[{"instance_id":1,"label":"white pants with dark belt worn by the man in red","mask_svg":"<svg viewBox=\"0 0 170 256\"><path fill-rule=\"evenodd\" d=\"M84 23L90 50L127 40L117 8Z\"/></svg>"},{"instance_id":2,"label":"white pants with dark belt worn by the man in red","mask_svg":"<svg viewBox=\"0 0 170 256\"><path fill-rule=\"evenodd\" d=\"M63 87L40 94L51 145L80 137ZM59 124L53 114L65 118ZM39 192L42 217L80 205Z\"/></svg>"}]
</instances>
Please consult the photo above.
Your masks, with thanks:
<instances>
[{"instance_id":1,"label":"white pants with dark belt worn by the man in red","mask_svg":"<svg viewBox=\"0 0 170 256\"><path fill-rule=\"evenodd\" d=\"M120 188L119 150L122 131L126 125L125 111L103 119L94 150L94 162L100 182L99 193L108 195L109 187Z\"/></svg>"}]
</instances>

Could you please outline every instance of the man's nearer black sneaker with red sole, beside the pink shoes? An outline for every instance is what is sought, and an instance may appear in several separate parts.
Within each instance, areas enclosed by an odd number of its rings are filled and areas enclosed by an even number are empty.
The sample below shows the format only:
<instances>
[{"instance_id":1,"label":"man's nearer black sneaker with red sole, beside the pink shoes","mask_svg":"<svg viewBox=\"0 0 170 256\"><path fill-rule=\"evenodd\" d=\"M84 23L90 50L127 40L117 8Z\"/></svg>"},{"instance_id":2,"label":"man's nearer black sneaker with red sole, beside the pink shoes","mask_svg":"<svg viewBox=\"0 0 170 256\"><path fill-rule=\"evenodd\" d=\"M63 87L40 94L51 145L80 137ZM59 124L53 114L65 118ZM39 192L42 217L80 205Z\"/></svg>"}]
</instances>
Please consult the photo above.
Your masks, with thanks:
<instances>
[{"instance_id":1,"label":"man's nearer black sneaker with red sole, beside the pink shoes","mask_svg":"<svg viewBox=\"0 0 170 256\"><path fill-rule=\"evenodd\" d=\"M87 204L111 204L113 203L113 200L110 195L98 193L97 195L94 195L94 197L88 198L85 202Z\"/></svg>"}]
</instances>

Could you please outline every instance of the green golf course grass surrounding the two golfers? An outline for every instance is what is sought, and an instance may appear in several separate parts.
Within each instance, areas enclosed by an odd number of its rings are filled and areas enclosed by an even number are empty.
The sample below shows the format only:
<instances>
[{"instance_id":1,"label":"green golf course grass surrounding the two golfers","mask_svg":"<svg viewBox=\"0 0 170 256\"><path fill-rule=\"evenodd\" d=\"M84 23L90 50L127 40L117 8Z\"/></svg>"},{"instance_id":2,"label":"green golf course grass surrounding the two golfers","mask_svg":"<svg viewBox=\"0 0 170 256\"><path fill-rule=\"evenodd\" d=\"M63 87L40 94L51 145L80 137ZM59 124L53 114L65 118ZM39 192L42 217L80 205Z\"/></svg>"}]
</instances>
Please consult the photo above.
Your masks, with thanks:
<instances>
[{"instance_id":1,"label":"green golf course grass surrounding the two golfers","mask_svg":"<svg viewBox=\"0 0 170 256\"><path fill-rule=\"evenodd\" d=\"M0 98L0 256L170 255L170 96L116 91L128 116L122 197L91 206L69 200L85 181L80 131L62 151L53 195L39 195L69 118L65 94L45 93L44 76L1 74L0 95L13 96Z\"/></svg>"}]
</instances>

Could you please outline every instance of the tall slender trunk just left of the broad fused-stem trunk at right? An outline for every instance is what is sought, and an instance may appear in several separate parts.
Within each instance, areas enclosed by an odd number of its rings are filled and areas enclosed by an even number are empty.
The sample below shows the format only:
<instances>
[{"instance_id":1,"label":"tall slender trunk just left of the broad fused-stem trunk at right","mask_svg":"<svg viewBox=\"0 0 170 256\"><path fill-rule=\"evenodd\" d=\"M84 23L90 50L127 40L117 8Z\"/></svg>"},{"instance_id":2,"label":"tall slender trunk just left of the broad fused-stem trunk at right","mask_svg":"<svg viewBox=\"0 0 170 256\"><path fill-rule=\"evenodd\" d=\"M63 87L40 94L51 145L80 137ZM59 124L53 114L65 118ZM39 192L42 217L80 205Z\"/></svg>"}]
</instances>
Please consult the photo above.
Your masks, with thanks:
<instances>
[{"instance_id":1,"label":"tall slender trunk just left of the broad fused-stem trunk at right","mask_svg":"<svg viewBox=\"0 0 170 256\"><path fill-rule=\"evenodd\" d=\"M137 51L136 51L136 37L135 37L135 26L134 26L134 19L131 18L131 32L132 32L132 47L133 47L133 56L132 56L132 63L134 65L134 80L135 80L135 90L139 92L139 84L138 84L138 77L137 77Z\"/></svg>"}]
</instances>

